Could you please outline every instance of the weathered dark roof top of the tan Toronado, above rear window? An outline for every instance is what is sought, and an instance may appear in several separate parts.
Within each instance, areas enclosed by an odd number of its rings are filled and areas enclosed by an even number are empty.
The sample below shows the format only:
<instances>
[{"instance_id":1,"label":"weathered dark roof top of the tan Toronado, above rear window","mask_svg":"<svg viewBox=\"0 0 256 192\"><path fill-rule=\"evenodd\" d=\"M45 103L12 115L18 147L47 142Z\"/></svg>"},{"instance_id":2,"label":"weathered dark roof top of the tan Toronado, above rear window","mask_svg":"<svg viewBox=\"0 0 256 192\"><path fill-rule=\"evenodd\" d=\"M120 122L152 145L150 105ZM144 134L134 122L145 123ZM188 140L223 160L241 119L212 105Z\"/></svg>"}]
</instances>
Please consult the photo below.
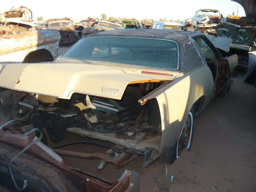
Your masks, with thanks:
<instances>
[{"instance_id":1,"label":"weathered dark roof top of the tan Toronado, above rear window","mask_svg":"<svg viewBox=\"0 0 256 192\"><path fill-rule=\"evenodd\" d=\"M125 37L146 37L169 39L187 44L189 42L188 35L192 32L170 29L120 29L93 34L95 36L125 36Z\"/></svg>"}]
</instances>

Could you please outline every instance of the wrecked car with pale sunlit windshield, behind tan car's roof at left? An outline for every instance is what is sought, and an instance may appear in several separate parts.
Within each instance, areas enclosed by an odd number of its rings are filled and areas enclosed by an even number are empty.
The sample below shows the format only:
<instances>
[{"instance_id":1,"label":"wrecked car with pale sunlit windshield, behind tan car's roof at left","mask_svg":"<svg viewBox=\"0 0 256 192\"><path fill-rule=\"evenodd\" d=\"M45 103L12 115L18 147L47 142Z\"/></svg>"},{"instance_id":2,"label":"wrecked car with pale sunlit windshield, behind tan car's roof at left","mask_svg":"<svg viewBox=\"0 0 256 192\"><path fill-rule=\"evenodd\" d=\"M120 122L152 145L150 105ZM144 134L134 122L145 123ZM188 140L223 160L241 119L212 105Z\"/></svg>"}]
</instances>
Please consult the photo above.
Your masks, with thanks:
<instances>
[{"instance_id":1,"label":"wrecked car with pale sunlit windshield, behind tan car's roof at left","mask_svg":"<svg viewBox=\"0 0 256 192\"><path fill-rule=\"evenodd\" d=\"M123 29L123 27L120 24L108 21L96 21L91 26L88 26L83 30L83 36L116 29Z\"/></svg>"}]
</instances>

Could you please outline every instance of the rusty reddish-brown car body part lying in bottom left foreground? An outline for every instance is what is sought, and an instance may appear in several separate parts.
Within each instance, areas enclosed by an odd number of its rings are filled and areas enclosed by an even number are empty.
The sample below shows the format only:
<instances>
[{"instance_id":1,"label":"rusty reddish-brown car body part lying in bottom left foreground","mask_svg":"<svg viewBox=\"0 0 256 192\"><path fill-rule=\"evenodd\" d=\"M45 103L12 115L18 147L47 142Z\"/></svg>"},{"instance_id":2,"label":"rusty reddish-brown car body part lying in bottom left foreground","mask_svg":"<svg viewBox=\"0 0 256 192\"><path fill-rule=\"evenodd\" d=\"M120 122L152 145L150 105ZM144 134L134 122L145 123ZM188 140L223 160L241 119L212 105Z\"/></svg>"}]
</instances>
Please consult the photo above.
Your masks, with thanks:
<instances>
[{"instance_id":1,"label":"rusty reddish-brown car body part lying in bottom left foreground","mask_svg":"<svg viewBox=\"0 0 256 192\"><path fill-rule=\"evenodd\" d=\"M33 140L20 134L5 135L0 139L0 184L8 190L16 190L9 172L10 160ZM139 192L139 175L126 170L116 182L76 168L62 160L50 148L38 142L18 156L11 164L18 186L28 181L26 190L39 192ZM105 186L90 177L98 177ZM114 183L114 184L113 184Z\"/></svg>"}]
</instances>

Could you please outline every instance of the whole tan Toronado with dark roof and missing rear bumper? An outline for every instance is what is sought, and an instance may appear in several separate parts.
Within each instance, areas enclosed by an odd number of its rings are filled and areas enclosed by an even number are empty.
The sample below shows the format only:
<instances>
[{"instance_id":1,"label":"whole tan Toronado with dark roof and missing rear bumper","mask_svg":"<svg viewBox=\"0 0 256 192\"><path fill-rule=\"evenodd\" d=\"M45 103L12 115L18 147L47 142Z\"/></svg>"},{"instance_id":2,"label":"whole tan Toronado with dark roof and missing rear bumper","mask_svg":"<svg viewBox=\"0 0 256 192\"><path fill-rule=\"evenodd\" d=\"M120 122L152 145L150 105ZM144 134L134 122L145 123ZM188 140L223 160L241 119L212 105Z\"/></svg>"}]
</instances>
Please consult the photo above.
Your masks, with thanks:
<instances>
[{"instance_id":1,"label":"whole tan Toronado with dark roof and missing rear bumper","mask_svg":"<svg viewBox=\"0 0 256 192\"><path fill-rule=\"evenodd\" d=\"M94 156L103 160L99 169L106 162L120 168L138 155L144 155L143 167L162 155L173 163L191 148L194 117L215 95L227 95L237 62L237 55L222 58L202 33L93 34L53 62L1 64L0 98L9 121L4 127L17 132L26 120L46 145L46 132L60 142L66 131L116 144ZM53 151L92 157L60 147Z\"/></svg>"}]
</instances>

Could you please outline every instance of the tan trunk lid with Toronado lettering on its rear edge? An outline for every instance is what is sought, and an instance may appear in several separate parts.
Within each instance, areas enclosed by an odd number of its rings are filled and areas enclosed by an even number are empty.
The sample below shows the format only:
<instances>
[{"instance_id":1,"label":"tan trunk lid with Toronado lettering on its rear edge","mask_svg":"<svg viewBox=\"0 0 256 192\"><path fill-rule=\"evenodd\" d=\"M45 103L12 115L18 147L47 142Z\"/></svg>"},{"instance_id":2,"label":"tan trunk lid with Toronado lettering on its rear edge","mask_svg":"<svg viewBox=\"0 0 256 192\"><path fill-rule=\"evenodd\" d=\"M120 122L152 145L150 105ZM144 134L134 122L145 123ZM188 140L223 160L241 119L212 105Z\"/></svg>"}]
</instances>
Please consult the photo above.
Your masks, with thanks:
<instances>
[{"instance_id":1,"label":"tan trunk lid with Toronado lettering on its rear edge","mask_svg":"<svg viewBox=\"0 0 256 192\"><path fill-rule=\"evenodd\" d=\"M0 72L0 87L65 99L74 92L121 99L128 84L172 80L180 75L161 71L172 76L144 74L134 68L70 62L0 64Z\"/></svg>"}]
</instances>

